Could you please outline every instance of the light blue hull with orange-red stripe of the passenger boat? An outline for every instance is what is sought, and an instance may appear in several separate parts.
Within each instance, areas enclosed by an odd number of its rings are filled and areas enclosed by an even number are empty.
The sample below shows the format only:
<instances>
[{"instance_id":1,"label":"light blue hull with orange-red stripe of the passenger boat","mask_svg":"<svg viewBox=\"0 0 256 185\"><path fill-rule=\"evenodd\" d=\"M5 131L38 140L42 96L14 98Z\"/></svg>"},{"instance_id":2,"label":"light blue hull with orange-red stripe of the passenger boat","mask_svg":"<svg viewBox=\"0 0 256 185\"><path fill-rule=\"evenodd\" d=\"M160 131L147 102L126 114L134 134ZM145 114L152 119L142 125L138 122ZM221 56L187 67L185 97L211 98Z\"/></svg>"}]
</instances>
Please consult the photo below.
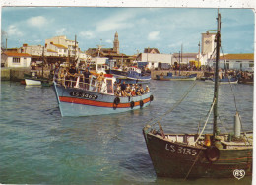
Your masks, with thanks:
<instances>
[{"instance_id":1,"label":"light blue hull with orange-red stripe of the passenger boat","mask_svg":"<svg viewBox=\"0 0 256 185\"><path fill-rule=\"evenodd\" d=\"M151 92L133 97L64 88L54 83L57 101L62 116L91 116L121 113L148 106L153 100Z\"/></svg>"}]
</instances>

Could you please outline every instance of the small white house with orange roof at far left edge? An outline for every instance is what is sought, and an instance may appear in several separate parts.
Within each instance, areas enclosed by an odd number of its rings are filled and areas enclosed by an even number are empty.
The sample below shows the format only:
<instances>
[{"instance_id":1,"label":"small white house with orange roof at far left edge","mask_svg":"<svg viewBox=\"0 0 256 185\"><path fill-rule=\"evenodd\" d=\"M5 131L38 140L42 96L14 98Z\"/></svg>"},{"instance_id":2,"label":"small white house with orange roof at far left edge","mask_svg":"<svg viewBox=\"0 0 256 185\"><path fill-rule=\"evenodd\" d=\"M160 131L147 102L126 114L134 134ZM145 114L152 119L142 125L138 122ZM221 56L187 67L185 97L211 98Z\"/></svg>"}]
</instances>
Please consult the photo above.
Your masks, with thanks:
<instances>
[{"instance_id":1,"label":"small white house with orange roof at far left edge","mask_svg":"<svg viewBox=\"0 0 256 185\"><path fill-rule=\"evenodd\" d=\"M28 53L3 52L1 63L4 67L30 67L32 57Z\"/></svg>"}]
</instances>

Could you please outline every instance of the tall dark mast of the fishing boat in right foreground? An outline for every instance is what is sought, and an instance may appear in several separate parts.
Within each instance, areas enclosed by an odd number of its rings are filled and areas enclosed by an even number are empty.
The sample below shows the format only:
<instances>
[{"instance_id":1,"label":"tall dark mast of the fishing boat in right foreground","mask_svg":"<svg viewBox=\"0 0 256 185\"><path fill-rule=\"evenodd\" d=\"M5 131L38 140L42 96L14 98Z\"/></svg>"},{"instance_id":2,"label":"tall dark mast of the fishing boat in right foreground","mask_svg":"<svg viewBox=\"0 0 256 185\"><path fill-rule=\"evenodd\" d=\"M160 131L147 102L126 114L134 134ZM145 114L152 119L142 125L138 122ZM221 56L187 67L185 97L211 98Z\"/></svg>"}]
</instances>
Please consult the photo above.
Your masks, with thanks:
<instances>
[{"instance_id":1,"label":"tall dark mast of the fishing boat in right foreground","mask_svg":"<svg viewBox=\"0 0 256 185\"><path fill-rule=\"evenodd\" d=\"M221 47L221 14L218 11L218 26L216 34L216 65L215 65L215 92L214 92L214 126L213 126L213 140L217 135L217 118L218 118L218 92L219 92L219 58L220 58L220 47Z\"/></svg>"}]
</instances>

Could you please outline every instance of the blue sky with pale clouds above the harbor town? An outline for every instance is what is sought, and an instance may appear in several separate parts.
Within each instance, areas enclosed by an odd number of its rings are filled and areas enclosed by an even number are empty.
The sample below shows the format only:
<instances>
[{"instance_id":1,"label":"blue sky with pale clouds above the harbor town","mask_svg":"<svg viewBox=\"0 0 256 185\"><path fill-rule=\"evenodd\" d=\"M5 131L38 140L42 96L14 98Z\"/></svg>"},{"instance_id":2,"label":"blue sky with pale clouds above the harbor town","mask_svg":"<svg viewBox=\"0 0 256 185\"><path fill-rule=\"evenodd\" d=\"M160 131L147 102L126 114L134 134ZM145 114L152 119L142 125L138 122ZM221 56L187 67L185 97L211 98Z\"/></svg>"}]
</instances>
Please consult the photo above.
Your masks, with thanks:
<instances>
[{"instance_id":1,"label":"blue sky with pale clouds above the harbor town","mask_svg":"<svg viewBox=\"0 0 256 185\"><path fill-rule=\"evenodd\" d=\"M224 53L253 53L254 12L219 9ZM44 45L45 39L66 35L82 51L112 48L118 32L120 52L133 55L144 48L170 54L198 52L201 33L217 29L217 9L109 8L109 7L2 7L1 31L8 48ZM3 37L4 38L4 37ZM5 42L5 39L3 39Z\"/></svg>"}]
</instances>

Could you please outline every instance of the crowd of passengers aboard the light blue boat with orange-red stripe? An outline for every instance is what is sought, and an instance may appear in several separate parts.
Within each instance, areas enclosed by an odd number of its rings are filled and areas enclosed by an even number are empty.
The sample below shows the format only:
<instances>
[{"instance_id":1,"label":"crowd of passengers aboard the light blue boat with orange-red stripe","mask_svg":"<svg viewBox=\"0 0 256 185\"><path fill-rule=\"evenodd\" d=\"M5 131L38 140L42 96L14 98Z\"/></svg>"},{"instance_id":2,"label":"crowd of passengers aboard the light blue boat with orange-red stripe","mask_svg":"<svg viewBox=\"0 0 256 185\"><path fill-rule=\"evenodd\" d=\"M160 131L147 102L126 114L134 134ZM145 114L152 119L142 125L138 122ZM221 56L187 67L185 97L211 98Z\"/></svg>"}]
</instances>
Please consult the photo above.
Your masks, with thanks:
<instances>
[{"instance_id":1,"label":"crowd of passengers aboard the light blue boat with orange-red stripe","mask_svg":"<svg viewBox=\"0 0 256 185\"><path fill-rule=\"evenodd\" d=\"M80 88L84 88L86 90L89 90L89 84L90 84L90 75L88 68L86 68L85 71L78 72L75 68L75 66L71 66L71 68L68 70L68 68L62 68L59 69L58 73L56 73L56 78L59 79L59 83L65 87L75 87L77 78L80 77ZM96 79L96 91L100 92L102 88L102 84L104 82L104 74L100 73L97 76ZM144 89L142 85L138 84L126 84L125 82L121 83L114 83L114 94L116 96L123 96L123 97L129 97L129 96L136 96L136 95L142 95L144 93L150 92L150 88L148 85L146 85L146 88Z\"/></svg>"}]
</instances>

